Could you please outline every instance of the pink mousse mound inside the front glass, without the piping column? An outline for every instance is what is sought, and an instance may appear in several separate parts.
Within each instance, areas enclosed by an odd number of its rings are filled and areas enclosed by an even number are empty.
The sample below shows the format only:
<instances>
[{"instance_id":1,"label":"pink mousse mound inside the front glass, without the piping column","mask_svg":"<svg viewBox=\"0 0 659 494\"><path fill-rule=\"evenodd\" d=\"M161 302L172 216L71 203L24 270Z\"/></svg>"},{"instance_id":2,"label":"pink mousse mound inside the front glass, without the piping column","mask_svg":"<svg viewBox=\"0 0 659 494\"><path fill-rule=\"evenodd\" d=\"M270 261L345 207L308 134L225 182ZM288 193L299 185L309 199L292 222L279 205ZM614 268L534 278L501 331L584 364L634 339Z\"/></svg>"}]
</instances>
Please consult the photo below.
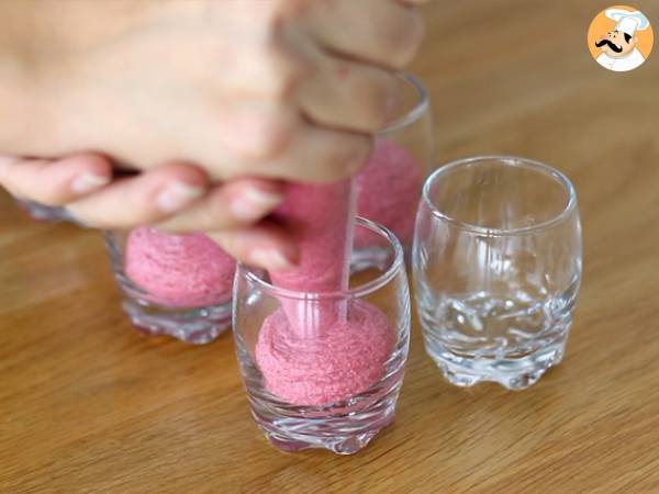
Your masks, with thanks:
<instances>
[{"instance_id":1,"label":"pink mousse mound inside the front glass, without the piping column","mask_svg":"<svg viewBox=\"0 0 659 494\"><path fill-rule=\"evenodd\" d=\"M293 329L280 308L264 322L256 360L270 393L294 405L327 405L378 382L393 343L384 313L365 301L351 301L347 321L313 338Z\"/></svg>"}]
</instances>

